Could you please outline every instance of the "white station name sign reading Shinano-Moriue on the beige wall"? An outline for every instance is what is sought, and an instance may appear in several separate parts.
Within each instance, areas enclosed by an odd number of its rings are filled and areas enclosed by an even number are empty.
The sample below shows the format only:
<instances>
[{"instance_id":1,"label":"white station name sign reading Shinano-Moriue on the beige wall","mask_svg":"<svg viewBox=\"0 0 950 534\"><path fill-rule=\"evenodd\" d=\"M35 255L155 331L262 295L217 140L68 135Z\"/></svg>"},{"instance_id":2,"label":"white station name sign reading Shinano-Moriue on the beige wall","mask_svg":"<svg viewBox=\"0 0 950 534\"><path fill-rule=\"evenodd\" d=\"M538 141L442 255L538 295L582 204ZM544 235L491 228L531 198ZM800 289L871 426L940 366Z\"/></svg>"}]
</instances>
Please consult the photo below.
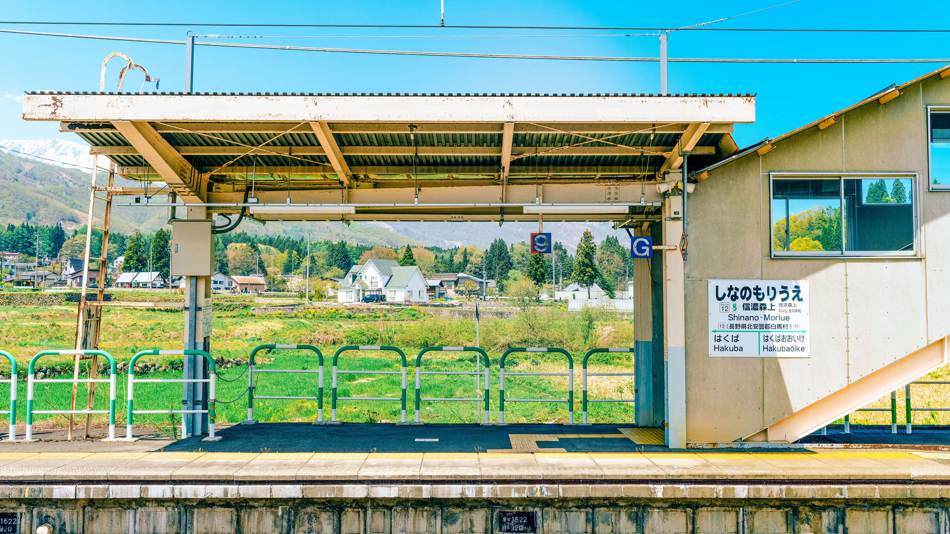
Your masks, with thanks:
<instances>
[{"instance_id":1,"label":"white station name sign reading Shinano-Moriue on the beige wall","mask_svg":"<svg viewBox=\"0 0 950 534\"><path fill-rule=\"evenodd\" d=\"M807 280L709 280L710 355L808 357Z\"/></svg>"}]
</instances>

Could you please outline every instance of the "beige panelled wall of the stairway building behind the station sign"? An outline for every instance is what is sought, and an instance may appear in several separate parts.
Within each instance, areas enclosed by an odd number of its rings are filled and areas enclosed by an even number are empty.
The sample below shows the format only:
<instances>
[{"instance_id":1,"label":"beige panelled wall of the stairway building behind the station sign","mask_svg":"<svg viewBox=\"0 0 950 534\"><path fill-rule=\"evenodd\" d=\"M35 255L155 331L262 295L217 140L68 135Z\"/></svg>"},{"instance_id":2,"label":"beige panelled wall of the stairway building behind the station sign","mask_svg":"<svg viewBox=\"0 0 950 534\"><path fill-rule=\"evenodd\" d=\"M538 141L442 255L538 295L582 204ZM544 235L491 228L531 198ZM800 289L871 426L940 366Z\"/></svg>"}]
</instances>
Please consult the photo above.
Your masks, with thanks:
<instances>
[{"instance_id":1,"label":"beige panelled wall of the stairway building behind the station sign","mask_svg":"<svg viewBox=\"0 0 950 534\"><path fill-rule=\"evenodd\" d=\"M950 192L927 191L930 77L713 169L690 196L687 439L730 442L950 334ZM771 259L769 172L919 172L920 257ZM807 279L811 357L709 357L707 279Z\"/></svg>"}]
</instances>

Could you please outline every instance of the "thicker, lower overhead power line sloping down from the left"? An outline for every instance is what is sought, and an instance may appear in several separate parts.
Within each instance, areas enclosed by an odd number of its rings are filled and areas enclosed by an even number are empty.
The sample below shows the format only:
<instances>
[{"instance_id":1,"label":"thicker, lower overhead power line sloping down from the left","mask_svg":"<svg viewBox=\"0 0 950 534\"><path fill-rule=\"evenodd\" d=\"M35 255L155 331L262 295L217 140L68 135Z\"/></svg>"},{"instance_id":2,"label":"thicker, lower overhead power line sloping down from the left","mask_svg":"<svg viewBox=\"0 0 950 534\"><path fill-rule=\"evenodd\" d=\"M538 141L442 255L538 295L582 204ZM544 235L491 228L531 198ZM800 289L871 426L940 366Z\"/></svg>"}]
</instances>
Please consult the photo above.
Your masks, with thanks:
<instances>
[{"instance_id":1,"label":"thicker, lower overhead power line sloping down from the left","mask_svg":"<svg viewBox=\"0 0 950 534\"><path fill-rule=\"evenodd\" d=\"M101 35L72 35L68 33L45 33L41 31L22 31L16 29L0 29L4 33L23 33L28 35L47 35L54 37L75 37L82 39L103 39L107 41L133 41L137 43L159 43L162 45L184 45L184 41L164 39L140 39L137 37L105 37ZM568 61L629 61L629 62L658 62L656 57L610 57L610 56L553 56L533 54L482 54L469 52L420 52L408 50L371 50L359 48L317 48L317 47L281 47L278 45L243 45L237 43L205 43L196 41L195 46L226 47L226 48L263 48L274 50L300 50L311 52L343 52L356 54L388 54L404 56L435 56L435 57L472 57L497 59L547 59ZM672 63L815 63L815 64L842 64L842 63L950 63L950 59L744 59L744 58L669 58Z\"/></svg>"}]
</instances>

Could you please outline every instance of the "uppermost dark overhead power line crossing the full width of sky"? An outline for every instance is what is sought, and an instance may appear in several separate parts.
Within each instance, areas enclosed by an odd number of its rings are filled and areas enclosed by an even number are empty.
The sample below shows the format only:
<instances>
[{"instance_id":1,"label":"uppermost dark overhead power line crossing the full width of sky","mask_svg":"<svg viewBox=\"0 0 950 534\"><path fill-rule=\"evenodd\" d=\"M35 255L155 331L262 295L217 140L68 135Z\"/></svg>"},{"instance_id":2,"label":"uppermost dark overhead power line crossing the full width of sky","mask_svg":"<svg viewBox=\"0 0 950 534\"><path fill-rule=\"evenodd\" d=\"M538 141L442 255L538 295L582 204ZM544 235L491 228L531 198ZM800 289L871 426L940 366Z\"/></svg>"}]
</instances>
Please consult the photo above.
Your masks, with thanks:
<instances>
[{"instance_id":1,"label":"uppermost dark overhead power line crossing the full width of sky","mask_svg":"<svg viewBox=\"0 0 950 534\"><path fill-rule=\"evenodd\" d=\"M752 11L754 12L754 11ZM748 14L748 13L745 13ZM741 15L735 15L741 16ZM735 18L735 17L728 17ZM725 20L725 19L723 19ZM712 21L718 22L718 21ZM227 28L430 28L430 29L618 29L632 31L843 31L883 33L947 33L950 29L820 29L820 28L627 28L602 26L439 26L399 24L221 24L178 22L40 22L0 21L0 24L38 24L67 26L218 26ZM706 23L711 24L711 23Z\"/></svg>"}]
</instances>

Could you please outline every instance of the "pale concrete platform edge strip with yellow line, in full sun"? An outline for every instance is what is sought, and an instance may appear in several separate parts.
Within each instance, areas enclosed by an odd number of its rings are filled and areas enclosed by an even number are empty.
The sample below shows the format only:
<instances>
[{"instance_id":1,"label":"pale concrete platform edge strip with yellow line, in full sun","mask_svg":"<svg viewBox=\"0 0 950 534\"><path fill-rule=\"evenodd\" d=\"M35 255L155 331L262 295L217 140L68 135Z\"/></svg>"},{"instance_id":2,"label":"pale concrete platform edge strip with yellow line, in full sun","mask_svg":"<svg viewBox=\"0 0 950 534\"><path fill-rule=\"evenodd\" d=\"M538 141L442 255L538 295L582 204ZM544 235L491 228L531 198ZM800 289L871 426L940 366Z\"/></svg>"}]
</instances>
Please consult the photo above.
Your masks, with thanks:
<instances>
[{"instance_id":1,"label":"pale concrete platform edge strip with yellow line, in full sun","mask_svg":"<svg viewBox=\"0 0 950 534\"><path fill-rule=\"evenodd\" d=\"M169 484L335 484L386 481L950 481L950 454L848 452L151 452L0 453L8 481L169 481ZM179 482L180 481L180 482Z\"/></svg>"}]
</instances>

